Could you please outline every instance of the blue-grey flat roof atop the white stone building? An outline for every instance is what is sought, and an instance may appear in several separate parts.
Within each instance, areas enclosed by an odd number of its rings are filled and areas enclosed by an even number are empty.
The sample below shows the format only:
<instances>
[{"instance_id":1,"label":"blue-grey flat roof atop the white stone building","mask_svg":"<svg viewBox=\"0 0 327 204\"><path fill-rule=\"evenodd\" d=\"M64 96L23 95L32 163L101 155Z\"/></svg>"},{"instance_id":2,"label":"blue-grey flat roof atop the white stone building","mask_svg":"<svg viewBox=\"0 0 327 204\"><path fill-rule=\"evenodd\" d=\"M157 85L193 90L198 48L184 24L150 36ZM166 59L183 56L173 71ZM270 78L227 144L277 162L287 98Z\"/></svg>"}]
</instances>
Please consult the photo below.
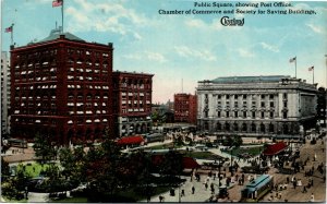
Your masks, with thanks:
<instances>
[{"instance_id":1,"label":"blue-grey flat roof atop the white stone building","mask_svg":"<svg viewBox=\"0 0 327 204\"><path fill-rule=\"evenodd\" d=\"M249 82L279 82L290 75L261 75L261 76L226 76L217 77L211 83L249 83Z\"/></svg>"}]
</instances>

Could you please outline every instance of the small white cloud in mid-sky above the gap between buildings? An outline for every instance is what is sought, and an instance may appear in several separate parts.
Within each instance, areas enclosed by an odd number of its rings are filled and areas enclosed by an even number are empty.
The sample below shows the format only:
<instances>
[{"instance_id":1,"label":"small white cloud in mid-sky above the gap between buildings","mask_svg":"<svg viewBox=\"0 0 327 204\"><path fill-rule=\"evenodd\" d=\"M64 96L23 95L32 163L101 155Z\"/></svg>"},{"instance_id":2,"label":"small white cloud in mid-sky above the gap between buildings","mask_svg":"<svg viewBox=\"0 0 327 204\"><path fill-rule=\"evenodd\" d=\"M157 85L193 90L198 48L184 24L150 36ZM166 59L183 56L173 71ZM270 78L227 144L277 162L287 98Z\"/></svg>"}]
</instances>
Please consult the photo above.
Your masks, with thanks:
<instances>
[{"instance_id":1,"label":"small white cloud in mid-sky above the gap between buildings","mask_svg":"<svg viewBox=\"0 0 327 204\"><path fill-rule=\"evenodd\" d=\"M211 55L208 50L198 50L198 48L190 48L186 46L175 46L174 47L175 52L179 56L182 56L184 58L190 59L202 59L205 61L216 61L216 56Z\"/></svg>"}]
</instances>

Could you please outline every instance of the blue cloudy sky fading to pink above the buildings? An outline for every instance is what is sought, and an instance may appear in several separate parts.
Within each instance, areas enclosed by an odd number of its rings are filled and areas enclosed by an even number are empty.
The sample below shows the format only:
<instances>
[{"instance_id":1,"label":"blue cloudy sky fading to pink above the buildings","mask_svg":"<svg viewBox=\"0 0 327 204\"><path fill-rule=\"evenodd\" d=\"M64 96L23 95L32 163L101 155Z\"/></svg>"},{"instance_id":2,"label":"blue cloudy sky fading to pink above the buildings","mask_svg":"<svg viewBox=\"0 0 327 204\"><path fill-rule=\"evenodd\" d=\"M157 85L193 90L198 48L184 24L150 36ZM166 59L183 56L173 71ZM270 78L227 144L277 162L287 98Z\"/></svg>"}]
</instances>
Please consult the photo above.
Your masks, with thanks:
<instances>
[{"instance_id":1,"label":"blue cloudy sky fading to pink above the buildings","mask_svg":"<svg viewBox=\"0 0 327 204\"><path fill-rule=\"evenodd\" d=\"M14 23L16 46L46 38L61 25L61 8L52 0L2 0L1 47L8 51ZM211 7L195 7L194 2ZM175 93L195 94L197 82L220 76L290 75L326 87L327 1L288 1L263 7L267 12L313 10L315 14L240 14L213 7L223 1L64 0L63 27L86 41L113 43L113 70L155 74L153 103L173 100ZM237 3L239 1L230 1ZM240 1L261 3L257 1ZM268 3L268 1L264 1ZM281 2L281 1L278 1ZM272 2L274 3L274 2ZM159 14L165 11L234 10L230 14ZM221 17L242 20L223 26Z\"/></svg>"}]
</instances>

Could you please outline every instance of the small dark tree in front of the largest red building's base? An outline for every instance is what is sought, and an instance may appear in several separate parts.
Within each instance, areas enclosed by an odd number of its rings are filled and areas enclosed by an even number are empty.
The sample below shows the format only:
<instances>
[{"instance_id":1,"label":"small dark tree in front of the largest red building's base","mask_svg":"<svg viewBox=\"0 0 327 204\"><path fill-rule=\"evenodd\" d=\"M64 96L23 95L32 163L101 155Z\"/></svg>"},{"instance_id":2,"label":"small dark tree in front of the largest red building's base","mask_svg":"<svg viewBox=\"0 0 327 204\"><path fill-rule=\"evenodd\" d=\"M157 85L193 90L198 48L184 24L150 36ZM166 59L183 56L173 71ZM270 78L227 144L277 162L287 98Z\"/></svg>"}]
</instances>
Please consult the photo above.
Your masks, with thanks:
<instances>
[{"instance_id":1,"label":"small dark tree in front of the largest red building's base","mask_svg":"<svg viewBox=\"0 0 327 204\"><path fill-rule=\"evenodd\" d=\"M39 158L38 161L40 161L41 165L56 158L57 149L48 135L37 133L34 139L33 148L35 156Z\"/></svg>"}]
</instances>

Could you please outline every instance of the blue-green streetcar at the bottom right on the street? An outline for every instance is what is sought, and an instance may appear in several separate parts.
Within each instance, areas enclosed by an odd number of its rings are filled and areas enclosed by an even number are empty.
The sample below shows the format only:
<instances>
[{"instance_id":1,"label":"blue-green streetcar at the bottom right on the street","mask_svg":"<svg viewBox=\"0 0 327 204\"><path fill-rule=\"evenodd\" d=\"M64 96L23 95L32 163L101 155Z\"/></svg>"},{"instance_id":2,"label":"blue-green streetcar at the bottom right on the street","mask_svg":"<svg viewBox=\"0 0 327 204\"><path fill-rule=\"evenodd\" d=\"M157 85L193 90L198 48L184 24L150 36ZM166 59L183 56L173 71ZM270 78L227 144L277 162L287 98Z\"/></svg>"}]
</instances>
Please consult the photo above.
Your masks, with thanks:
<instances>
[{"instance_id":1,"label":"blue-green streetcar at the bottom right on the street","mask_svg":"<svg viewBox=\"0 0 327 204\"><path fill-rule=\"evenodd\" d=\"M274 188L274 179L270 175L262 175L249 182L241 191L240 202L258 202Z\"/></svg>"}]
</instances>

